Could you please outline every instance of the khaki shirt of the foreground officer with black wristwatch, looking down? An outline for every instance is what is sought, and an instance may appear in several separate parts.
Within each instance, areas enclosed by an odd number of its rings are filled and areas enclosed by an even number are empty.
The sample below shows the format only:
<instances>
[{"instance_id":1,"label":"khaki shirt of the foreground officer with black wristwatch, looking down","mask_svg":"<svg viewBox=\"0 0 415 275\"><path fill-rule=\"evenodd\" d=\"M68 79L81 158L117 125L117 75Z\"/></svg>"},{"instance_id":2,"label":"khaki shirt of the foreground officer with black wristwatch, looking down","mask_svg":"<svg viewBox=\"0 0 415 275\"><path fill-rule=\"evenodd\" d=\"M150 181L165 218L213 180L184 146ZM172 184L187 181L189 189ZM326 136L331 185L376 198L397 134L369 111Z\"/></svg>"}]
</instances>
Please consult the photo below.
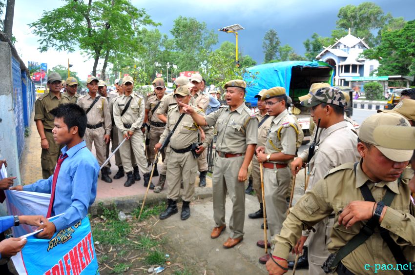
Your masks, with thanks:
<instances>
[{"instance_id":1,"label":"khaki shirt of the foreground officer with black wristwatch, looking down","mask_svg":"<svg viewBox=\"0 0 415 275\"><path fill-rule=\"evenodd\" d=\"M362 160L361 160L362 161ZM312 190L308 190L291 209L284 221L280 235L273 240L275 248L273 255L286 259L291 248L300 236L301 230L311 228L314 224L329 216L333 211L334 220L338 220L339 211L344 209L354 200L364 200L359 189L363 184L368 184L376 201L380 201L386 193L386 186L396 194L391 207L388 207L380 226L390 231L393 240L403 248L403 254L410 262L415 260L415 206L410 200L411 191L408 187L408 169L403 173L402 182L398 185L393 182L380 181L373 183L362 171L361 162L357 165L356 173L353 162L343 164L332 169L328 175L319 180ZM410 174L410 173L409 173ZM368 181L369 180L369 181ZM368 183L366 183L368 181ZM359 233L363 222L356 222L346 229L338 222L334 223L328 249L331 253L337 252L349 240ZM365 270L365 264L396 264L394 256L385 241L375 229L372 236L366 242L358 246L352 253L343 258L342 263L353 274L373 275L374 269ZM381 271L378 271L380 274ZM391 271L388 274L391 273ZM395 271L394 274L400 274Z\"/></svg>"}]
</instances>

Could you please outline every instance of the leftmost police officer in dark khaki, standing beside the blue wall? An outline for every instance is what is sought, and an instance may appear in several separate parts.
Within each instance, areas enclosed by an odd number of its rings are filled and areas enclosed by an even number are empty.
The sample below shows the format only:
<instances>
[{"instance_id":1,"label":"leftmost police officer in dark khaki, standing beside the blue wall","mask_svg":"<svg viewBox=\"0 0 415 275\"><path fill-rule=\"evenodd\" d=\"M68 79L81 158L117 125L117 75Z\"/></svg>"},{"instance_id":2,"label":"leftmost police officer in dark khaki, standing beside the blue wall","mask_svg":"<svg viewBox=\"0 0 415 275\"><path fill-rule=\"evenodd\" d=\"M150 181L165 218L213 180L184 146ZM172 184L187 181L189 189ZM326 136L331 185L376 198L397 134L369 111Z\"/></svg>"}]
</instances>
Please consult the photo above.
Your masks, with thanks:
<instances>
[{"instance_id":1,"label":"leftmost police officer in dark khaki, standing beside the blue wall","mask_svg":"<svg viewBox=\"0 0 415 275\"><path fill-rule=\"evenodd\" d=\"M50 114L50 111L61 104L61 76L58 73L51 72L47 78L47 86L49 93L44 93L35 102L35 122L41 137L41 164L44 179L53 175L60 153L60 146L55 142L52 134L52 129L55 127L55 117Z\"/></svg>"}]
</instances>

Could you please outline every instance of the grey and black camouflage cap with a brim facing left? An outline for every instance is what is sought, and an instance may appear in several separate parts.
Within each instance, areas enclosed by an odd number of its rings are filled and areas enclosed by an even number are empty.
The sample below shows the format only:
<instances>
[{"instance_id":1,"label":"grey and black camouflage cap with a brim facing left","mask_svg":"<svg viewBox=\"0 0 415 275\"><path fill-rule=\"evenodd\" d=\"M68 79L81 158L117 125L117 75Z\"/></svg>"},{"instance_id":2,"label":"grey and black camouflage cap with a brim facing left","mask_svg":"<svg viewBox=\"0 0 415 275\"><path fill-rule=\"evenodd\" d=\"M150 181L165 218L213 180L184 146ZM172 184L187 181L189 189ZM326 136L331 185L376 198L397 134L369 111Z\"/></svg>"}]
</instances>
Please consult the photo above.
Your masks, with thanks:
<instances>
[{"instance_id":1,"label":"grey and black camouflage cap with a brim facing left","mask_svg":"<svg viewBox=\"0 0 415 275\"><path fill-rule=\"evenodd\" d=\"M317 90L311 98L301 101L301 105L306 107L314 107L321 103L337 105L342 108L346 106L346 99L343 93L333 87L323 87Z\"/></svg>"}]
</instances>

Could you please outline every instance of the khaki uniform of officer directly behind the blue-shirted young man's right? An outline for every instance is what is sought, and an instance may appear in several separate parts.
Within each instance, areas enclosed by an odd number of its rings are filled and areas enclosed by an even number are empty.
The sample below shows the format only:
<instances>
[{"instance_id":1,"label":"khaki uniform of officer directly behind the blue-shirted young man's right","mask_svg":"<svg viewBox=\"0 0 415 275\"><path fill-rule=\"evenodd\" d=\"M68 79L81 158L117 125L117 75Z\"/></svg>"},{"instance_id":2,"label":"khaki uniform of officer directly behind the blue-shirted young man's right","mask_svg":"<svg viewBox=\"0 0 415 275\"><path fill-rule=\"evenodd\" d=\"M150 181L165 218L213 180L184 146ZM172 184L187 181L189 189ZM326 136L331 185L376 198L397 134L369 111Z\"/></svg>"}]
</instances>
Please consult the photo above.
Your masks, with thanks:
<instances>
[{"instance_id":1,"label":"khaki uniform of officer directly behind the blue-shirted young man's right","mask_svg":"<svg viewBox=\"0 0 415 275\"><path fill-rule=\"evenodd\" d=\"M106 98L99 96L98 93L95 98L97 97L100 98L94 106L92 106L88 114L86 114L87 124L84 139L86 147L88 147L89 151L92 151L92 143L94 143L98 163L102 165L106 159L106 144L104 141L104 135L110 136L112 124L108 101ZM93 101L94 98L87 93L86 95L78 98L77 104L86 112L90 108ZM106 164L105 167L108 167L108 164Z\"/></svg>"}]
</instances>

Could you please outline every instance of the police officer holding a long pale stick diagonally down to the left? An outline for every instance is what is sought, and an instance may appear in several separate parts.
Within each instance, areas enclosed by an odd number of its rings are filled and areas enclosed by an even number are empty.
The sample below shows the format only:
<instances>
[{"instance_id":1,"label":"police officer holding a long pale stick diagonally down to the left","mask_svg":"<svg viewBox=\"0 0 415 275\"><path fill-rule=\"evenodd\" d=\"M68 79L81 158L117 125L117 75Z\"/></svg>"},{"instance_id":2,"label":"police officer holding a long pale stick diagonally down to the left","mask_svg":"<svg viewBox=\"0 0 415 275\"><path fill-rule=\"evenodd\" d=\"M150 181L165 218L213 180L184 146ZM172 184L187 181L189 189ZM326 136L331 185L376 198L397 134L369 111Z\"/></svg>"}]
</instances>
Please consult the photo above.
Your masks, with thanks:
<instances>
[{"instance_id":1,"label":"police officer holding a long pale stick diagonally down to the left","mask_svg":"<svg viewBox=\"0 0 415 275\"><path fill-rule=\"evenodd\" d=\"M115 125L119 130L118 139L128 139L121 146L121 160L123 162L124 171L127 174L125 187L135 183L133 176L133 168L131 166L131 150L137 161L137 165L143 172L144 186L147 187L150 181L150 169L147 166L145 158L145 140L141 126L144 121L144 98L133 93L134 79L130 76L123 78L125 87L124 95L119 96L114 101L113 114ZM150 183L154 188L154 185ZM151 187L150 187L151 188Z\"/></svg>"}]
</instances>

